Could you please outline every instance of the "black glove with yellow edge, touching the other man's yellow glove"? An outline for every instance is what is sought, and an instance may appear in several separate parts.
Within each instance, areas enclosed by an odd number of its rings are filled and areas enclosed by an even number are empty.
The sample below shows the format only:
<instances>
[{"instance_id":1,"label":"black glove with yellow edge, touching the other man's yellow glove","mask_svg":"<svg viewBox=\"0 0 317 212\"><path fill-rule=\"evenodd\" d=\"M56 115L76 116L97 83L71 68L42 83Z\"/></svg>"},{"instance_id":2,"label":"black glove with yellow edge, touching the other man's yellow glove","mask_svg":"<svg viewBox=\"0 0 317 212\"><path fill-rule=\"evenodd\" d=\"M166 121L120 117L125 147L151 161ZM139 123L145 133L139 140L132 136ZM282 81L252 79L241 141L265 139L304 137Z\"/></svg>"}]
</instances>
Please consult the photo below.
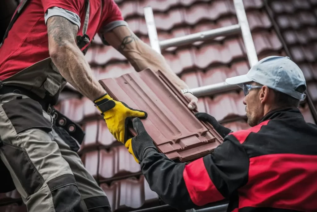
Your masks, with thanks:
<instances>
[{"instance_id":1,"label":"black glove with yellow edge, touching the other man's yellow glove","mask_svg":"<svg viewBox=\"0 0 317 212\"><path fill-rule=\"evenodd\" d=\"M147 134L141 119L133 119L133 128L137 135L127 140L125 146L129 153L133 155L135 161L140 164L143 160L143 153L146 149L152 148L156 151L157 149L154 145L153 139L149 134Z\"/></svg>"}]
</instances>

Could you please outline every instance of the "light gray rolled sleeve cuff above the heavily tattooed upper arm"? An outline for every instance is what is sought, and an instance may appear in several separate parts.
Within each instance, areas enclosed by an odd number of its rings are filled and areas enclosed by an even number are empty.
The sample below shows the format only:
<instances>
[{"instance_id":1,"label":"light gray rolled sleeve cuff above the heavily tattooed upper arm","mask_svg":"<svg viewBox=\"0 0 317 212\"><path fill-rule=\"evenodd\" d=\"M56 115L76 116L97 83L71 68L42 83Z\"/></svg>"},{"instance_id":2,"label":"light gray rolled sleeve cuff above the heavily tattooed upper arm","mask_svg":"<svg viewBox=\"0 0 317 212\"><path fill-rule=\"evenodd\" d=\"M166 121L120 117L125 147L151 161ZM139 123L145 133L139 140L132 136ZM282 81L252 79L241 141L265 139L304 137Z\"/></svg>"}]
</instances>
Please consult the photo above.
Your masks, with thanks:
<instances>
[{"instance_id":1,"label":"light gray rolled sleeve cuff above the heavily tattooed upper arm","mask_svg":"<svg viewBox=\"0 0 317 212\"><path fill-rule=\"evenodd\" d=\"M73 24L76 24L78 26L78 29L81 26L80 17L76 13L71 12L67 9L62 9L60 7L49 8L44 16L45 24L47 24L47 19L49 19L49 17L52 16L62 16L66 18L68 21L72 22Z\"/></svg>"}]
</instances>

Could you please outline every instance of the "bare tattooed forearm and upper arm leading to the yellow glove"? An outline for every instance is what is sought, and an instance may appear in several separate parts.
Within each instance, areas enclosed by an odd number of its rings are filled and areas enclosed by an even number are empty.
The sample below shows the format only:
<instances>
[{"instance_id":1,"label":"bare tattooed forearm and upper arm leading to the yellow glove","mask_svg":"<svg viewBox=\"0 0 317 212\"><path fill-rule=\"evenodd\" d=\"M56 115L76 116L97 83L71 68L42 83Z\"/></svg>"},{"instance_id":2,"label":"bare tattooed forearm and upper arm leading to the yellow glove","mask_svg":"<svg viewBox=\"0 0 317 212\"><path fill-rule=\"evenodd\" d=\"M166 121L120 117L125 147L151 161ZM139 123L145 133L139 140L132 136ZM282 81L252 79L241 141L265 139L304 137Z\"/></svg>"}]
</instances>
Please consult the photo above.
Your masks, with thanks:
<instances>
[{"instance_id":1,"label":"bare tattooed forearm and upper arm leading to the yellow glove","mask_svg":"<svg viewBox=\"0 0 317 212\"><path fill-rule=\"evenodd\" d=\"M49 55L61 75L82 95L94 100L105 94L104 88L94 78L88 62L76 45L78 27L61 16L47 21Z\"/></svg>"}]
</instances>

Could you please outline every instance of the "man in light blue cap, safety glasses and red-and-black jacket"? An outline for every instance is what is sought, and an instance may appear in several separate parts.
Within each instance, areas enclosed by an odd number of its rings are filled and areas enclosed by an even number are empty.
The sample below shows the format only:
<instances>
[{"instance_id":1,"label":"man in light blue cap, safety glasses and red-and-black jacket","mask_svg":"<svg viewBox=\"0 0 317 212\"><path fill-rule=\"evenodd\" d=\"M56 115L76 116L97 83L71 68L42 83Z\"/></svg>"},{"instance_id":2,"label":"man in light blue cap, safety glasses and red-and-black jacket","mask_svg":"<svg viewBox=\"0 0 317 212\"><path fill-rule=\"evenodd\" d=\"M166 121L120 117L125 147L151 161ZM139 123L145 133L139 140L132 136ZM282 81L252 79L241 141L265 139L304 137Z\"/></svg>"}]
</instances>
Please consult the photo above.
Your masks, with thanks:
<instances>
[{"instance_id":1,"label":"man in light blue cap, safety glasses and red-and-black jacket","mask_svg":"<svg viewBox=\"0 0 317 212\"><path fill-rule=\"evenodd\" d=\"M139 118L129 152L162 200L191 209L223 199L227 211L317 211L317 126L298 109L305 98L301 69L288 57L260 60L246 75L229 78L243 88L247 130L232 132L197 113L224 138L213 153L175 163L159 153Z\"/></svg>"}]
</instances>

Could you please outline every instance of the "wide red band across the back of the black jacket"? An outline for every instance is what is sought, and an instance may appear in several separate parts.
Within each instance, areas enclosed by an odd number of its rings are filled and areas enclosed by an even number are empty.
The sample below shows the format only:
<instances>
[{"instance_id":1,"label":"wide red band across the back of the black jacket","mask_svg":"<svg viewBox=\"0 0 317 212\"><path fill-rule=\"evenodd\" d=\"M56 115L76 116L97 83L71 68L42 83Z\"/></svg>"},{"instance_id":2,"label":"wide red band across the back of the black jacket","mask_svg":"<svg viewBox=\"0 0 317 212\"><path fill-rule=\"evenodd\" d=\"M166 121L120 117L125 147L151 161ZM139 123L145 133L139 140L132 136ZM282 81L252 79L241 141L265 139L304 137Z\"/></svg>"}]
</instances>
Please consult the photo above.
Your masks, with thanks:
<instances>
[{"instance_id":1,"label":"wide red band across the back of the black jacket","mask_svg":"<svg viewBox=\"0 0 317 212\"><path fill-rule=\"evenodd\" d=\"M317 209L317 156L269 154L250 158L249 181L239 208Z\"/></svg>"}]
</instances>

